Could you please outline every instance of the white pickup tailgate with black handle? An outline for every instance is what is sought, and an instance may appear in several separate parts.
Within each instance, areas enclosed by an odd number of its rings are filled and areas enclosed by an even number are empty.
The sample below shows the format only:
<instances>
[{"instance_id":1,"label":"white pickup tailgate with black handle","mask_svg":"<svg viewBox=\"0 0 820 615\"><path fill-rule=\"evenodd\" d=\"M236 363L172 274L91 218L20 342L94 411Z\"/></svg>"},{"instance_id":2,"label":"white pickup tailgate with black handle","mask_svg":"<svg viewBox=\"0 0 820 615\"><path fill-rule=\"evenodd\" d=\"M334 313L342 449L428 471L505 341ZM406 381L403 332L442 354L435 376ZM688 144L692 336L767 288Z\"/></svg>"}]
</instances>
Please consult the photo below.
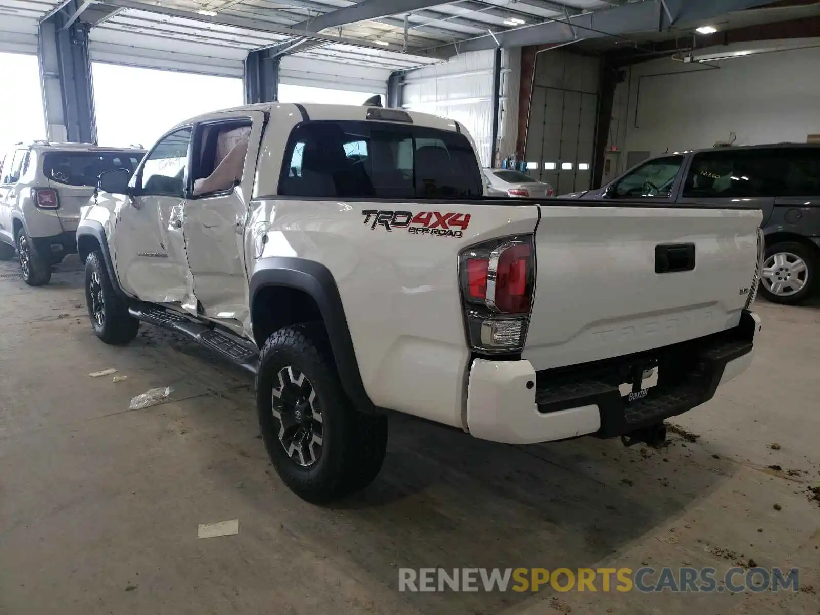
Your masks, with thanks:
<instances>
[{"instance_id":1,"label":"white pickup tailgate with black handle","mask_svg":"<svg viewBox=\"0 0 820 615\"><path fill-rule=\"evenodd\" d=\"M542 205L540 214L523 353L536 370L659 348L740 321L759 210L588 203ZM656 272L670 263L683 271Z\"/></svg>"}]
</instances>

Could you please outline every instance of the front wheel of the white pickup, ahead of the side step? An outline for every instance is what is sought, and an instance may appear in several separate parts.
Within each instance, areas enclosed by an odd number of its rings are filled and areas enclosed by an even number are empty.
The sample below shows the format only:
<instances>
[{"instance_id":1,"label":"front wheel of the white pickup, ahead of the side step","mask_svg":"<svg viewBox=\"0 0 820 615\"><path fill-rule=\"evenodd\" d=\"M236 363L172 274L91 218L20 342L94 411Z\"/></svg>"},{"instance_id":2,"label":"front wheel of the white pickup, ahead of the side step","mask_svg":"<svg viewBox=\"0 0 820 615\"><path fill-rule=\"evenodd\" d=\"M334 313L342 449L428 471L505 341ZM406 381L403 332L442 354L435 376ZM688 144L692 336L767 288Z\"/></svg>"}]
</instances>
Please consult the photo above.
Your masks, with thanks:
<instances>
[{"instance_id":1,"label":"front wheel of the white pickup, ahead of the side step","mask_svg":"<svg viewBox=\"0 0 820 615\"><path fill-rule=\"evenodd\" d=\"M125 299L116 294L98 252L85 260L85 305L94 333L106 344L128 344L137 336L139 321L128 313Z\"/></svg>"}]
</instances>

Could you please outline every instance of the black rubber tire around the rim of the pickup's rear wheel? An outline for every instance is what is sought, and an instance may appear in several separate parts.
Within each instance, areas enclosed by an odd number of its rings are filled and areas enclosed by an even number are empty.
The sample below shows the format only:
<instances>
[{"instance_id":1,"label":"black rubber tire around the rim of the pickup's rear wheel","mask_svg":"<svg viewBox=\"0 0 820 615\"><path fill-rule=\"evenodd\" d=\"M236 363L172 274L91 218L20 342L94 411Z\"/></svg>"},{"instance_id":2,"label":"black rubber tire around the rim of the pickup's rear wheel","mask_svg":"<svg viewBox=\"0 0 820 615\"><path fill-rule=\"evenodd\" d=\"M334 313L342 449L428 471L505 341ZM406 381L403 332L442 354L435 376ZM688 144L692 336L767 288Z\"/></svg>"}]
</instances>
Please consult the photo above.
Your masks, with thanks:
<instances>
[{"instance_id":1,"label":"black rubber tire around the rim of the pickup's rear wheel","mask_svg":"<svg viewBox=\"0 0 820 615\"><path fill-rule=\"evenodd\" d=\"M306 376L321 412L321 452L304 467L280 441L273 391L280 371ZM287 373L287 372L286 372ZM318 323L287 326L267 339L256 379L257 412L268 457L285 485L311 503L329 503L369 485L381 469L387 449L387 417L353 408L339 380L324 327Z\"/></svg>"}]
</instances>

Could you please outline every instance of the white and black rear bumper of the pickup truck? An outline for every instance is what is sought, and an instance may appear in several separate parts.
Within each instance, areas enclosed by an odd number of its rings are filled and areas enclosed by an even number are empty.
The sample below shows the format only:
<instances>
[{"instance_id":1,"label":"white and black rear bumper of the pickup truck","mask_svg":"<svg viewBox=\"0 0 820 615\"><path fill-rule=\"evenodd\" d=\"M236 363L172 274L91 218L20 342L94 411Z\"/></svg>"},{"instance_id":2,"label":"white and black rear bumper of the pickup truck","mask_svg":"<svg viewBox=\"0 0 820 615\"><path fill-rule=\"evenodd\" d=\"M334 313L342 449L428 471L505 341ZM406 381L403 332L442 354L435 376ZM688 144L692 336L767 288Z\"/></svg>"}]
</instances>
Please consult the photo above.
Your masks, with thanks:
<instances>
[{"instance_id":1,"label":"white and black rear bumper of the pickup truck","mask_svg":"<svg viewBox=\"0 0 820 615\"><path fill-rule=\"evenodd\" d=\"M739 326L717 335L539 372L529 361L474 359L467 426L476 438L508 444L628 434L712 399L749 367L758 330L759 317L743 312ZM650 367L658 369L658 384L622 395L619 385Z\"/></svg>"}]
</instances>

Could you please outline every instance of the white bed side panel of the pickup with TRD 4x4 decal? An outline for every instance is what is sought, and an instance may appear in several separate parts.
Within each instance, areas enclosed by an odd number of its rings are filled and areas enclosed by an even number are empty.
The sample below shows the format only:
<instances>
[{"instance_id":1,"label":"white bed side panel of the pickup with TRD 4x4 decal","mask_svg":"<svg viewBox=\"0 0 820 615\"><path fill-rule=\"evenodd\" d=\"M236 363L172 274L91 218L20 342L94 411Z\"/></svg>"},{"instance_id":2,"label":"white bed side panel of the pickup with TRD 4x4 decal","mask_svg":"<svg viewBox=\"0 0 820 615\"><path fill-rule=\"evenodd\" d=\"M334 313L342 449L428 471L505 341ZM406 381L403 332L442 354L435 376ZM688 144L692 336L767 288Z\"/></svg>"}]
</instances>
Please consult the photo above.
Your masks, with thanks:
<instances>
[{"instance_id":1,"label":"white bed side panel of the pickup with TRD 4x4 decal","mask_svg":"<svg viewBox=\"0 0 820 615\"><path fill-rule=\"evenodd\" d=\"M252 210L249 262L299 257L330 269L371 401L461 427L470 352L458 287L458 253L485 239L532 233L537 207L271 197L253 203ZM411 216L459 213L470 218L461 236L421 235L409 227L388 230L374 225L375 216L367 212L379 210ZM460 230L456 225L451 228ZM258 238L265 230L262 244Z\"/></svg>"}]
</instances>

